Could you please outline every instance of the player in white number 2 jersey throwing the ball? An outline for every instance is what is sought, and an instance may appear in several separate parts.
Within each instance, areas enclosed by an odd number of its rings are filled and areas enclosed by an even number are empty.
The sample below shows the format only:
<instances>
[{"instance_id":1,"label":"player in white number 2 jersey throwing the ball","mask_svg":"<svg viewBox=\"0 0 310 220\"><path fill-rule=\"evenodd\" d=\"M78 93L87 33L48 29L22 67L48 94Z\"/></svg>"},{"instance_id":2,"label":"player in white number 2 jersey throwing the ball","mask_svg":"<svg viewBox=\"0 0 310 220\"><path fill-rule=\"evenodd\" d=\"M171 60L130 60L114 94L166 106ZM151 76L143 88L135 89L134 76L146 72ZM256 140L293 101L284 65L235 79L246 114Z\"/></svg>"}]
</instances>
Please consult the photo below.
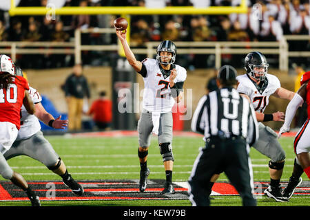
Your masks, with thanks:
<instances>
[{"instance_id":1,"label":"player in white number 2 jersey throwing the ball","mask_svg":"<svg viewBox=\"0 0 310 220\"><path fill-rule=\"evenodd\" d=\"M158 145L163 157L166 181L161 194L175 192L172 186L174 155L172 153L172 107L183 98L183 83L186 70L176 61L176 45L172 41L163 41L157 47L156 59L146 58L136 61L126 41L126 31L117 31L116 35L123 45L127 61L134 70L143 76L143 111L138 120L138 157L141 165L141 192L147 188L147 154L152 132L158 135Z\"/></svg>"}]
</instances>

